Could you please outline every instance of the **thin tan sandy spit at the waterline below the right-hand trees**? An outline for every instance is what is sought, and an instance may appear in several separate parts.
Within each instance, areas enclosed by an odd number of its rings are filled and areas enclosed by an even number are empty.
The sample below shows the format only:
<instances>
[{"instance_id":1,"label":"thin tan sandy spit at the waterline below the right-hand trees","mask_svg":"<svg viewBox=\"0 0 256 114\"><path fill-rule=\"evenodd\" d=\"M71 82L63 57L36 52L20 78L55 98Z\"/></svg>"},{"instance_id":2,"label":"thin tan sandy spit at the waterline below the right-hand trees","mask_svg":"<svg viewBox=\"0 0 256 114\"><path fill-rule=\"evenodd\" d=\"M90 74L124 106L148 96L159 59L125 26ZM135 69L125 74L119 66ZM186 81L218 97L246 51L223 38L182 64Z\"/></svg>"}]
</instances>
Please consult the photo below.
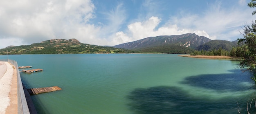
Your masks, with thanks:
<instances>
[{"instance_id":1,"label":"thin tan sandy spit at the waterline below the right-hand trees","mask_svg":"<svg viewBox=\"0 0 256 114\"><path fill-rule=\"evenodd\" d=\"M207 56L207 55L178 55L181 57L193 57L193 58L204 58L204 59L240 59L238 57L230 56Z\"/></svg>"}]
</instances>

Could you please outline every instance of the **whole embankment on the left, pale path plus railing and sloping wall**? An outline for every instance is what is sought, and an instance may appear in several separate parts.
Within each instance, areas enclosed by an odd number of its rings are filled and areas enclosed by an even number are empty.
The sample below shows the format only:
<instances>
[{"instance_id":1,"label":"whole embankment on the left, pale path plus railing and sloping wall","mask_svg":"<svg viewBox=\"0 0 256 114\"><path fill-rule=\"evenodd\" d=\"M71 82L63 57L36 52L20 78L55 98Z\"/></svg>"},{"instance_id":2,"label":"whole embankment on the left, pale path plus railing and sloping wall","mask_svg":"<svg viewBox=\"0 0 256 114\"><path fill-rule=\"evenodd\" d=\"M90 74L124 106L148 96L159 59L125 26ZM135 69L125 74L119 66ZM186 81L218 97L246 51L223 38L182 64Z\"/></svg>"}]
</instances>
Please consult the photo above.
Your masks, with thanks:
<instances>
[{"instance_id":1,"label":"whole embankment on the left, pale path plus railing and sloping wall","mask_svg":"<svg viewBox=\"0 0 256 114\"><path fill-rule=\"evenodd\" d=\"M16 61L0 61L0 114L37 114Z\"/></svg>"}]
</instances>

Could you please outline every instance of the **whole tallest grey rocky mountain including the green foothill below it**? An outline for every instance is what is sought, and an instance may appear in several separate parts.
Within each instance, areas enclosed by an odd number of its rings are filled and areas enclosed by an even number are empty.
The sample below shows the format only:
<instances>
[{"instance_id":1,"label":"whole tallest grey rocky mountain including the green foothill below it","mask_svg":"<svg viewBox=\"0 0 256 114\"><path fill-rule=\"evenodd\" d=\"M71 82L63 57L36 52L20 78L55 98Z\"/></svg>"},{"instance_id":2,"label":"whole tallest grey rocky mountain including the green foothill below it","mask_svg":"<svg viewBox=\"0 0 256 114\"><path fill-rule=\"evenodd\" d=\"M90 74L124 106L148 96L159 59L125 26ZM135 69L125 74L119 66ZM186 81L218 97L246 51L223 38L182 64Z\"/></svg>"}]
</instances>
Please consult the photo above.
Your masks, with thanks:
<instances>
[{"instance_id":1,"label":"whole tallest grey rocky mountain including the green foothill below it","mask_svg":"<svg viewBox=\"0 0 256 114\"><path fill-rule=\"evenodd\" d=\"M183 35L147 37L114 47L136 50L141 53L191 53L197 46L209 41L211 39L207 37L187 33Z\"/></svg>"}]
</instances>

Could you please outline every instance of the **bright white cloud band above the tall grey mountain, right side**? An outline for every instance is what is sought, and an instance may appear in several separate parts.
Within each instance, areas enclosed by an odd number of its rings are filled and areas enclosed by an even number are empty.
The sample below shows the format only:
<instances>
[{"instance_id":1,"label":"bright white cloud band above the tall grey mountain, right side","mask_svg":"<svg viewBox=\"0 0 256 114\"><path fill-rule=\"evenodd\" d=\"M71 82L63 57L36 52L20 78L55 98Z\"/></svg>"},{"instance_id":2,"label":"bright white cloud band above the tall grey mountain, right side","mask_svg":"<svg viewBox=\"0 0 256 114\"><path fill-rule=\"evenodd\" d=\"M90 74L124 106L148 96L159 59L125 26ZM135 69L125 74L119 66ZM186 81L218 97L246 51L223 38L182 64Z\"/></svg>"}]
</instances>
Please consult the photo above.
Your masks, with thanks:
<instances>
[{"instance_id":1,"label":"bright white cloud band above the tall grey mountain, right side","mask_svg":"<svg viewBox=\"0 0 256 114\"><path fill-rule=\"evenodd\" d=\"M239 0L238 4L245 4ZM161 19L152 16L146 21L134 22L128 25L128 32L115 39L139 40L145 37L158 35L181 35L195 33L210 39L234 41L240 38L243 24L251 23L252 9L239 7L222 7L222 2L209 4L202 14L180 11L180 15L173 15L165 24L159 26ZM120 40L121 41L121 40ZM125 43L125 42L123 42Z\"/></svg>"}]
</instances>

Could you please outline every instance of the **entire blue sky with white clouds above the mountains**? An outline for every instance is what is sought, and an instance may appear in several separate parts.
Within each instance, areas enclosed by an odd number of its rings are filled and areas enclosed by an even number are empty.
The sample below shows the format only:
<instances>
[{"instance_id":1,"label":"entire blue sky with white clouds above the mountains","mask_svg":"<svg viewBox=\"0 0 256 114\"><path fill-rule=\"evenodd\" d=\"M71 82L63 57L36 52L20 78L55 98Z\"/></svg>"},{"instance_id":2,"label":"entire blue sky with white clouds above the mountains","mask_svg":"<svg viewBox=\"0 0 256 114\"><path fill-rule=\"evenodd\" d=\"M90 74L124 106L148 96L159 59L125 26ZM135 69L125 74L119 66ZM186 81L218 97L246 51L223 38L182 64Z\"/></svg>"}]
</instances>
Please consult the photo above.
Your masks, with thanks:
<instances>
[{"instance_id":1,"label":"entire blue sky with white clouds above the mountains","mask_svg":"<svg viewBox=\"0 0 256 114\"><path fill-rule=\"evenodd\" d=\"M242 38L250 0L0 0L0 48L49 39L115 46L146 37L195 33Z\"/></svg>"}]
</instances>

